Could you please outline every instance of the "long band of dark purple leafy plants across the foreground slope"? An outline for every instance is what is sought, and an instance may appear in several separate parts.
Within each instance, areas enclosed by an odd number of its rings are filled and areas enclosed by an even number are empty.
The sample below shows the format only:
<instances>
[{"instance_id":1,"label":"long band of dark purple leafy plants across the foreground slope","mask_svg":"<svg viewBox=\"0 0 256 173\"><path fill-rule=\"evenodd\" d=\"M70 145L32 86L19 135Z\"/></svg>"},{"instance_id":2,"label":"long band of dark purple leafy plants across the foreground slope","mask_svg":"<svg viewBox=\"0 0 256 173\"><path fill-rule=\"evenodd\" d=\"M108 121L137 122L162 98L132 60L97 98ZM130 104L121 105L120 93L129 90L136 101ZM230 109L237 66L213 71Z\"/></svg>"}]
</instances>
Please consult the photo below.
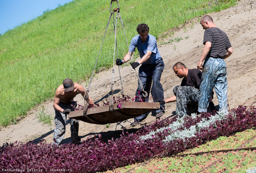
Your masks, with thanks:
<instances>
[{"instance_id":1,"label":"long band of dark purple leafy plants across the foreground slope","mask_svg":"<svg viewBox=\"0 0 256 173\"><path fill-rule=\"evenodd\" d=\"M200 122L202 118L215 115L205 113L195 119L189 117L183 128L189 128ZM234 118L232 115L236 115ZM87 138L80 145L64 144L59 147L46 142L21 143L14 142L0 147L0 167L7 172L15 170L42 169L43 172L54 172L57 169L72 170L70 172L96 172L114 169L133 163L143 162L154 156L178 154L185 149L202 145L219 136L229 136L241 129L250 129L256 126L256 108L254 106L239 106L232 109L225 120L217 121L215 126L202 128L194 137L176 139L171 142L162 142L168 135L166 131L155 134L153 138L139 140L139 137L149 134L161 127L167 127L177 118L157 120L145 126L136 134L124 131L120 138L104 142L101 135L98 138ZM9 171L11 170L11 171ZM51 171L52 170L52 171Z\"/></svg>"}]
</instances>

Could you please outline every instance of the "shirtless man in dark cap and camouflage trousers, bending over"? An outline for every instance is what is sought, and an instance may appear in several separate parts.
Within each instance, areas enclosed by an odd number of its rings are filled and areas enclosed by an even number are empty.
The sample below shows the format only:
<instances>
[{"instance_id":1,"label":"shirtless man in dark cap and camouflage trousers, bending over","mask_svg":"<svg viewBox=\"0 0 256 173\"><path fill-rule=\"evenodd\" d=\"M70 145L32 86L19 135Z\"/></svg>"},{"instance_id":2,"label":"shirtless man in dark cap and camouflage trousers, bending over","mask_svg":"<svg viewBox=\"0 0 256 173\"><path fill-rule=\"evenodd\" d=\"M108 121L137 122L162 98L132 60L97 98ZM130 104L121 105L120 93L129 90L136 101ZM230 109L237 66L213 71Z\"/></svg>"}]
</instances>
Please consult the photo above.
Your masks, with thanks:
<instances>
[{"instance_id":1,"label":"shirtless man in dark cap and camouflage trousers, bending over","mask_svg":"<svg viewBox=\"0 0 256 173\"><path fill-rule=\"evenodd\" d=\"M53 101L53 107L55 110L54 123L56 124L53 133L53 144L61 145L66 131L67 115L71 111L75 111L74 107L76 107L76 102L73 101L73 99L78 94L86 97L85 89L81 85L73 83L69 78L64 79L63 85L60 85L56 89ZM88 103L94 105L94 102L90 97ZM70 118L70 125L72 143L80 142L81 138L78 136L78 120Z\"/></svg>"}]
</instances>

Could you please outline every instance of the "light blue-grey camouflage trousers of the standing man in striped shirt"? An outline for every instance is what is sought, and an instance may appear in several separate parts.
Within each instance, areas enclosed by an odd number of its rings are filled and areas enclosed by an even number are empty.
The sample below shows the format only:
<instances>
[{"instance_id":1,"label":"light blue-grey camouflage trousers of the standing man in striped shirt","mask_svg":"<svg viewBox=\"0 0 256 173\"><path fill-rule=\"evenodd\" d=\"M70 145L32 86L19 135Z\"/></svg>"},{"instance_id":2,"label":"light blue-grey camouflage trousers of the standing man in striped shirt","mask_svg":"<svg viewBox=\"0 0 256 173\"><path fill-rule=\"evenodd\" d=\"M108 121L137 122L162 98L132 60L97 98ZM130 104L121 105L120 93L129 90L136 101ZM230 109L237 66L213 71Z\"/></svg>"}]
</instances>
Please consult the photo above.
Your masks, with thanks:
<instances>
[{"instance_id":1,"label":"light blue-grey camouflage trousers of the standing man in striped shirt","mask_svg":"<svg viewBox=\"0 0 256 173\"><path fill-rule=\"evenodd\" d=\"M206 58L200 84L198 112L207 112L213 88L217 95L220 111L227 111L227 71L223 58Z\"/></svg>"}]
</instances>

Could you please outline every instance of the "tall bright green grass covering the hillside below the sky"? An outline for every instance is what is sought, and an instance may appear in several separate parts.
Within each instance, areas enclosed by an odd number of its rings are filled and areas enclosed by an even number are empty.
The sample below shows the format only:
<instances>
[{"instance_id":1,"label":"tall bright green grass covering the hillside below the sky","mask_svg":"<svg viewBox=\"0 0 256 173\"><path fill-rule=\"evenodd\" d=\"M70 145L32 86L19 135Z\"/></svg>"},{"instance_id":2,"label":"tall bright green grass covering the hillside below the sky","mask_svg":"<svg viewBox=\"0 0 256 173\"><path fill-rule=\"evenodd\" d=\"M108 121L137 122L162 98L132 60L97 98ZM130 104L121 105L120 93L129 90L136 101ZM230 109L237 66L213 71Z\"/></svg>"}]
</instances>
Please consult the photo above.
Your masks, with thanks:
<instances>
[{"instance_id":1,"label":"tall bright green grass covering the hillside below the sky","mask_svg":"<svg viewBox=\"0 0 256 173\"><path fill-rule=\"evenodd\" d=\"M235 0L120 0L128 41L146 23L157 39L197 16L235 5ZM65 78L75 82L91 75L109 19L110 0L75 0L0 35L0 125L7 126L35 105L52 98ZM113 2L116 8L116 2ZM120 22L118 55L127 53ZM96 71L113 63L113 18ZM91 93L93 94L93 93Z\"/></svg>"}]
</instances>

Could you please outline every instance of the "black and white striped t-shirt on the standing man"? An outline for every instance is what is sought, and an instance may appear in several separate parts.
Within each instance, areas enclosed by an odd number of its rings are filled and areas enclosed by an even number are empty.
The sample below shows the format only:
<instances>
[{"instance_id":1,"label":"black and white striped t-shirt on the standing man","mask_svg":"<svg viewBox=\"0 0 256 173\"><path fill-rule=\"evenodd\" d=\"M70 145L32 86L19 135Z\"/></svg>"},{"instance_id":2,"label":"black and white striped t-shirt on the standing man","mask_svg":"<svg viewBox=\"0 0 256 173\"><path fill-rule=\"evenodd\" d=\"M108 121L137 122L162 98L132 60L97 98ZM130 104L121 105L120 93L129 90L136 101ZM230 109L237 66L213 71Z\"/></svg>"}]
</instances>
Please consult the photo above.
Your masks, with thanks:
<instances>
[{"instance_id":1,"label":"black and white striped t-shirt on the standing man","mask_svg":"<svg viewBox=\"0 0 256 173\"><path fill-rule=\"evenodd\" d=\"M205 44L206 41L212 43L212 47L206 57L224 58L226 49L231 47L226 33L215 27L208 28L204 31L203 44Z\"/></svg>"}]
</instances>

